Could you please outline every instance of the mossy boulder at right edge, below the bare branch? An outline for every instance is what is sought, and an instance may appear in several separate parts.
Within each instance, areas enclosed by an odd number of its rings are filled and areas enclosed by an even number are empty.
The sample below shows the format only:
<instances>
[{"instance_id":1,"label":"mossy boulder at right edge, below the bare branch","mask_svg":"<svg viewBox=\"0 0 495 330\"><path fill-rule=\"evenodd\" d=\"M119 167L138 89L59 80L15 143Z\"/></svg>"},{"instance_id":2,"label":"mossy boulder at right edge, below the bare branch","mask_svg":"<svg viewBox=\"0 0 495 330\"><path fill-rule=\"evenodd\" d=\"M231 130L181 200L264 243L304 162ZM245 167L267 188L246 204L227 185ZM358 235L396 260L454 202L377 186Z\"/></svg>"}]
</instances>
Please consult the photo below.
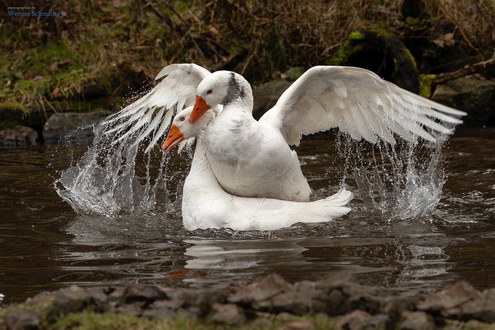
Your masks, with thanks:
<instances>
[{"instance_id":1,"label":"mossy boulder at right edge, below the bare branch","mask_svg":"<svg viewBox=\"0 0 495 330\"><path fill-rule=\"evenodd\" d=\"M432 100L466 111L466 122L490 125L495 122L495 81L459 78L440 84Z\"/></svg>"}]
</instances>

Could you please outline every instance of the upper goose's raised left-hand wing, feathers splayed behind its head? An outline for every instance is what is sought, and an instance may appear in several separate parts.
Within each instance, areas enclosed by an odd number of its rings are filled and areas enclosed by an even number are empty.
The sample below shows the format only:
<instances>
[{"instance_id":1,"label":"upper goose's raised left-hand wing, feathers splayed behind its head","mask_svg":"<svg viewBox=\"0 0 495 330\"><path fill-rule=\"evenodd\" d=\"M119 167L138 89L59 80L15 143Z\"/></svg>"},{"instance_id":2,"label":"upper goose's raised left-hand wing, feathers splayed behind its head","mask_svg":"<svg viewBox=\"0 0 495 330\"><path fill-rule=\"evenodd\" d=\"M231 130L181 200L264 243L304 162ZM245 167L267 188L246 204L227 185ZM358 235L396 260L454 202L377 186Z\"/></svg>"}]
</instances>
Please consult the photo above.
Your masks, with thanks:
<instances>
[{"instance_id":1,"label":"upper goose's raised left-hand wing, feathers splayed behind its head","mask_svg":"<svg viewBox=\"0 0 495 330\"><path fill-rule=\"evenodd\" d=\"M175 112L194 105L199 83L210 72L196 64L171 64L163 68L155 80L165 77L148 94L110 116L105 134L119 136L117 143L131 134L139 135L135 143L153 133L148 152L170 126ZM186 144L186 143L184 143Z\"/></svg>"}]
</instances>

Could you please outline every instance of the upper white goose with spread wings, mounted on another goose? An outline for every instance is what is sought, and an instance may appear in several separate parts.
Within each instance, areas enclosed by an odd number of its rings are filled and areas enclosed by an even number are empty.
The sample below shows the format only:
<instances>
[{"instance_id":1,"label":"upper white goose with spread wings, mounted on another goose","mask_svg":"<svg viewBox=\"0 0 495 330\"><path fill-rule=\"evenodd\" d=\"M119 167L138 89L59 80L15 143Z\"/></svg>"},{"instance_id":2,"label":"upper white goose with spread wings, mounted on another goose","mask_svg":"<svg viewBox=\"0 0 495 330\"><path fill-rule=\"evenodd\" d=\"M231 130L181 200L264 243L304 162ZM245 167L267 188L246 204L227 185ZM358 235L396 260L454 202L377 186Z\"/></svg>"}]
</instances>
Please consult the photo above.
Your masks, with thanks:
<instances>
[{"instance_id":1,"label":"upper white goose with spread wings, mounted on another goose","mask_svg":"<svg viewBox=\"0 0 495 330\"><path fill-rule=\"evenodd\" d=\"M147 95L109 119L113 128L108 132L122 133L116 141L138 132L137 142L154 133L148 151L165 133L175 109L194 102L194 122L211 108L219 114L204 134L206 157L220 186L243 197L309 200L311 190L289 146L298 145L302 135L339 127L355 140L372 143L382 139L393 144L394 134L407 141L418 136L435 141L435 132L452 134L447 126L462 123L456 117L466 114L369 70L316 66L255 121L251 87L234 72L210 74L195 64L172 64L156 78L163 76Z\"/></svg>"}]
</instances>

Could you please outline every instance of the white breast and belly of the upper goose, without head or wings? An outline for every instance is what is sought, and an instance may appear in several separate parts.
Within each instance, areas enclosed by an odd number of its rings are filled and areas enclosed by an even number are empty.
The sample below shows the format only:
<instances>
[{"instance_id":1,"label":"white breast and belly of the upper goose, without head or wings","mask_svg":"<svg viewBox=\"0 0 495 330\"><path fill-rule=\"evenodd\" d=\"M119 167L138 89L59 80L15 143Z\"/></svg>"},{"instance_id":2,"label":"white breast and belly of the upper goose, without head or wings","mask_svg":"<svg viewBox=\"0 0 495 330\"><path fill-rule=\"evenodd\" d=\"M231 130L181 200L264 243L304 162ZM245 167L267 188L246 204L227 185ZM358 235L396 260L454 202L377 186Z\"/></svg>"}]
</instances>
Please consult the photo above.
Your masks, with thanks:
<instances>
[{"instance_id":1,"label":"white breast and belly of the upper goose, without head or wings","mask_svg":"<svg viewBox=\"0 0 495 330\"><path fill-rule=\"evenodd\" d=\"M296 151L250 111L241 102L226 105L206 128L206 157L218 183L237 196L309 201Z\"/></svg>"}]
</instances>

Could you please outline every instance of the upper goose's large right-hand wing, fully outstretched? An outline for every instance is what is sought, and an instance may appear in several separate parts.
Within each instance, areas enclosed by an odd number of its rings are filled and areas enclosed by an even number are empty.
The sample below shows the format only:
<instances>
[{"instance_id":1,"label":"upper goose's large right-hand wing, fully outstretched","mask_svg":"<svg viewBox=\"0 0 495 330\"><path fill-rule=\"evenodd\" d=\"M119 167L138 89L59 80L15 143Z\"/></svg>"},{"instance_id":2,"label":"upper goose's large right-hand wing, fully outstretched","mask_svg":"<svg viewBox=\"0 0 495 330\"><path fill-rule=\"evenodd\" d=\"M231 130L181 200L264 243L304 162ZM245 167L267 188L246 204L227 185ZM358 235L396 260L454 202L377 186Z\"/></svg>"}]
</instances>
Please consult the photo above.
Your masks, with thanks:
<instances>
[{"instance_id":1,"label":"upper goose's large right-hand wing, fully outstretched","mask_svg":"<svg viewBox=\"0 0 495 330\"><path fill-rule=\"evenodd\" d=\"M398 134L411 141L435 141L433 131L452 134L465 112L405 91L375 73L355 67L315 66L280 96L260 121L280 129L289 145L302 135L333 127L355 140L395 143ZM448 124L446 124L448 123Z\"/></svg>"}]
</instances>

